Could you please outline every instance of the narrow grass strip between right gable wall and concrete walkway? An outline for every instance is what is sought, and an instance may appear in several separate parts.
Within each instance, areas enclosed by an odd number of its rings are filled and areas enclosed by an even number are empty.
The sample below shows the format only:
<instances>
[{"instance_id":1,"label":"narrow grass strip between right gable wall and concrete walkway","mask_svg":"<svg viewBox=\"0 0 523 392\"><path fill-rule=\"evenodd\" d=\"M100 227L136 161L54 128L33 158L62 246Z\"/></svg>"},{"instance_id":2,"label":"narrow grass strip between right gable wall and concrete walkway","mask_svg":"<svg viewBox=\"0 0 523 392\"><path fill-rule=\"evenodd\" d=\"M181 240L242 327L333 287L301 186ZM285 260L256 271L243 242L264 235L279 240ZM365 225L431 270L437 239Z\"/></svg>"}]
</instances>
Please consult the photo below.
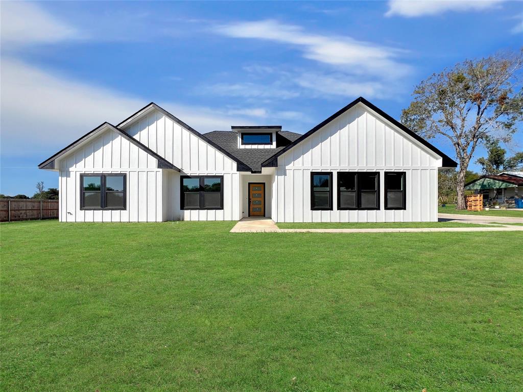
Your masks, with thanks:
<instances>
[{"instance_id":1,"label":"narrow grass strip between right gable wall and concrete walkway","mask_svg":"<svg viewBox=\"0 0 523 392\"><path fill-rule=\"evenodd\" d=\"M476 223L461 222L381 222L381 223L343 223L343 222L313 222L313 223L277 223L279 228L433 228L433 227L485 227ZM492 225L490 225L492 226Z\"/></svg>"}]
</instances>

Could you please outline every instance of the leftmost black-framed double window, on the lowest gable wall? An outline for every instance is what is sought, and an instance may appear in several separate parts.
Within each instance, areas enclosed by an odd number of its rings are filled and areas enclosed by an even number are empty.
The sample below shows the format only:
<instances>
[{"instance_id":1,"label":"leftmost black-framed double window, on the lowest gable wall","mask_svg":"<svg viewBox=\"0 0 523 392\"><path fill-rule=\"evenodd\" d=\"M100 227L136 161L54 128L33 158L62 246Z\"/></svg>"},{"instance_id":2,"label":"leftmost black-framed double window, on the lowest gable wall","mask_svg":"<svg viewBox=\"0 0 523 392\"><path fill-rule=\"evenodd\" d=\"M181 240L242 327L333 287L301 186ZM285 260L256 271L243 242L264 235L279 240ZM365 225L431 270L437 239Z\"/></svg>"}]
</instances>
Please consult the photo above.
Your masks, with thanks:
<instances>
[{"instance_id":1,"label":"leftmost black-framed double window, on the lowest gable wall","mask_svg":"<svg viewBox=\"0 0 523 392\"><path fill-rule=\"evenodd\" d=\"M126 175L82 174L82 210L126 209Z\"/></svg>"}]
</instances>

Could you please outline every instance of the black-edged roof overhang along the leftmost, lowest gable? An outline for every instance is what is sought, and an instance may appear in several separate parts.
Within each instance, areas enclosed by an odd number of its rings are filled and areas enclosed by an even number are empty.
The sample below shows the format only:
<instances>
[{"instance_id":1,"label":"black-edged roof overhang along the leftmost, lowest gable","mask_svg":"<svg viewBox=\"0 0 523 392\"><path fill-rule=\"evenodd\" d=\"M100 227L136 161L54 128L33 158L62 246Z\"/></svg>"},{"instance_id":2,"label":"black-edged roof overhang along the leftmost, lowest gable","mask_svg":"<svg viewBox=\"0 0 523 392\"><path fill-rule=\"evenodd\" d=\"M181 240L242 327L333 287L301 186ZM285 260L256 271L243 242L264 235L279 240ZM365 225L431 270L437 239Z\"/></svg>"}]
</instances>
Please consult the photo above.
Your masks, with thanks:
<instances>
[{"instance_id":1,"label":"black-edged roof overhang along the leftmost, lowest gable","mask_svg":"<svg viewBox=\"0 0 523 392\"><path fill-rule=\"evenodd\" d=\"M140 143L138 140L134 139L134 137L128 135L126 132L123 132L121 129L119 129L117 126L112 125L108 122L104 122L103 124L98 125L95 129L93 129L90 132L87 132L85 135L80 137L79 139L75 140L70 145L66 146L65 148L62 148L58 153L54 154L53 156L47 158L44 160L41 164L38 165L39 169L48 169L53 170L57 169L55 167L55 160L68 154L69 152L73 151L74 149L78 148L79 146L83 145L84 143L87 143L88 140L92 139L92 137L105 132L106 130L112 130L116 133L118 133L120 136L127 139L129 142L134 144L135 146L138 146L143 151L145 151L147 154L153 156L157 160L157 168L158 169L173 169L176 171L180 171L179 168L162 158L160 155L156 154L154 151L152 151L149 147L145 146L144 144Z\"/></svg>"}]
</instances>

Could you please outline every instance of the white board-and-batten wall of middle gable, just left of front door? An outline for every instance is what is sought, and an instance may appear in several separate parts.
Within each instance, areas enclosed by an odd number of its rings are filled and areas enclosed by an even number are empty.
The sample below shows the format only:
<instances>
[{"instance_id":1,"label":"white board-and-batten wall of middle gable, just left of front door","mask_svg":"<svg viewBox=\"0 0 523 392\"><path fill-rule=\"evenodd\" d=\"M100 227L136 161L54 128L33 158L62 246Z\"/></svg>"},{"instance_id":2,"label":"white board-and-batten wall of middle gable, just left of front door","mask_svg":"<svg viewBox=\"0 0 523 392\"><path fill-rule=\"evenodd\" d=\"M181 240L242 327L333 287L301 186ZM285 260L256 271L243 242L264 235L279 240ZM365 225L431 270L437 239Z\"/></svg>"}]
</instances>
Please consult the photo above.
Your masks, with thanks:
<instances>
[{"instance_id":1,"label":"white board-and-batten wall of middle gable, just left of front door","mask_svg":"<svg viewBox=\"0 0 523 392\"><path fill-rule=\"evenodd\" d=\"M124 131L187 176L223 176L223 210L180 210L180 173L167 174L167 220L235 221L240 219L240 174L236 162L218 149L152 109L124 126Z\"/></svg>"}]
</instances>

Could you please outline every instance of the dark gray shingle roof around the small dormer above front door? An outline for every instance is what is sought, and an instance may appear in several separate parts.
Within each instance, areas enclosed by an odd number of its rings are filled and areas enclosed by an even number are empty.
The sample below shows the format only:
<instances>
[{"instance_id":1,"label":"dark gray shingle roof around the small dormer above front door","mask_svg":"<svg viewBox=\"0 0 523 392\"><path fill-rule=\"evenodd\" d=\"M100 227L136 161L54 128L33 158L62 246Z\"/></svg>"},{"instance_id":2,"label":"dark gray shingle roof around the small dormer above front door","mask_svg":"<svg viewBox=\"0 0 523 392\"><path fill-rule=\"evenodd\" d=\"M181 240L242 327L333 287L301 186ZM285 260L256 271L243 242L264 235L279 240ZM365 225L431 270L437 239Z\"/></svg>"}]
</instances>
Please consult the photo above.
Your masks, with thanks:
<instances>
[{"instance_id":1,"label":"dark gray shingle roof around the small dormer above front door","mask_svg":"<svg viewBox=\"0 0 523 392\"><path fill-rule=\"evenodd\" d=\"M253 171L261 171L262 162L301 136L299 133L281 131L276 133L276 148L238 148L238 134L234 131L212 131L204 135Z\"/></svg>"}]
</instances>

